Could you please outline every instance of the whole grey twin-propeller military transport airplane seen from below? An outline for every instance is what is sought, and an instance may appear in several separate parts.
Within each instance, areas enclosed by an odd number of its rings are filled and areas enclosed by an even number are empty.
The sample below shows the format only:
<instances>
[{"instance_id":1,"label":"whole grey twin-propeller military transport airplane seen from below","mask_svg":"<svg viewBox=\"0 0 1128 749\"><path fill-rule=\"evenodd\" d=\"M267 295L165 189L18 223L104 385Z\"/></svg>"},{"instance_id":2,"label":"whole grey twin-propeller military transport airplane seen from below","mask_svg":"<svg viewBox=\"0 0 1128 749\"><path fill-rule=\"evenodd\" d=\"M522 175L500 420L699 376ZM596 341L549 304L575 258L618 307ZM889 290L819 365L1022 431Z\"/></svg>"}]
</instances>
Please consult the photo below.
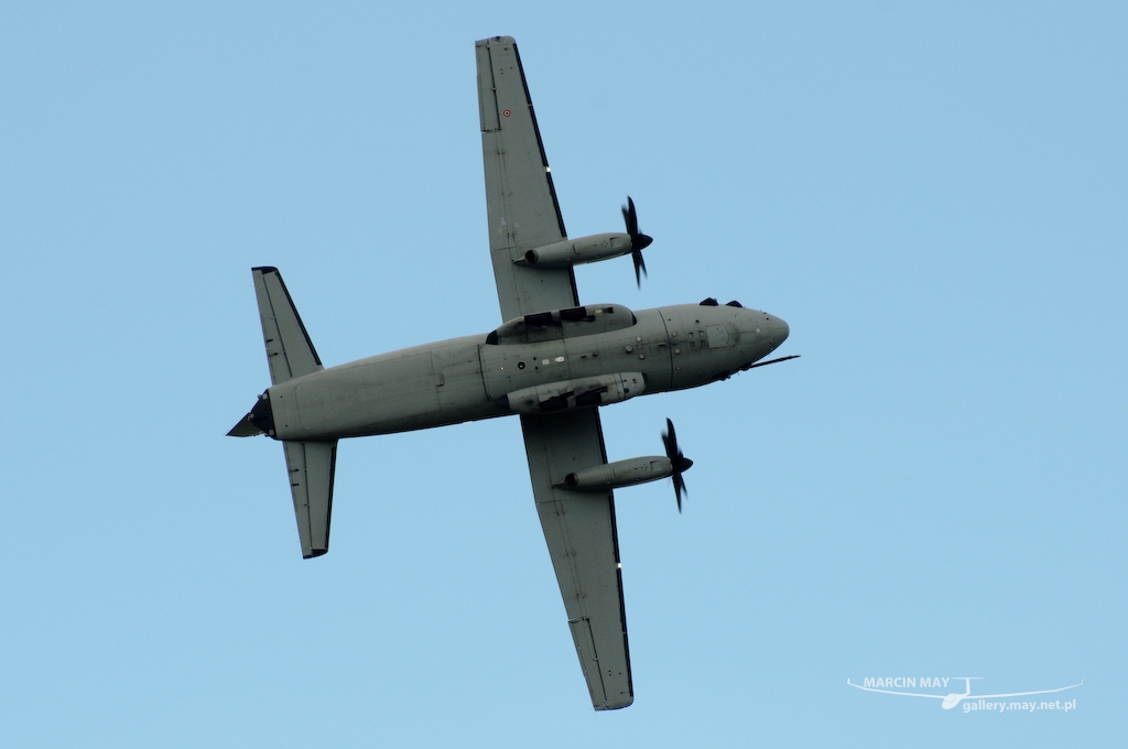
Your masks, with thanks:
<instances>
[{"instance_id":1,"label":"whole grey twin-propeller military transport airplane seen from below","mask_svg":"<svg viewBox=\"0 0 1128 749\"><path fill-rule=\"evenodd\" d=\"M567 237L517 44L483 39L476 53L503 325L325 369L277 268L253 268L273 385L230 435L282 442L309 558L329 549L337 440L519 415L591 702L626 707L634 697L613 490L672 477L680 510L690 461L667 421L666 456L608 464L598 407L773 363L756 362L784 342L787 324L714 299L641 311L581 305L574 265L629 254L638 282L651 238L640 233L629 199L626 232Z\"/></svg>"}]
</instances>

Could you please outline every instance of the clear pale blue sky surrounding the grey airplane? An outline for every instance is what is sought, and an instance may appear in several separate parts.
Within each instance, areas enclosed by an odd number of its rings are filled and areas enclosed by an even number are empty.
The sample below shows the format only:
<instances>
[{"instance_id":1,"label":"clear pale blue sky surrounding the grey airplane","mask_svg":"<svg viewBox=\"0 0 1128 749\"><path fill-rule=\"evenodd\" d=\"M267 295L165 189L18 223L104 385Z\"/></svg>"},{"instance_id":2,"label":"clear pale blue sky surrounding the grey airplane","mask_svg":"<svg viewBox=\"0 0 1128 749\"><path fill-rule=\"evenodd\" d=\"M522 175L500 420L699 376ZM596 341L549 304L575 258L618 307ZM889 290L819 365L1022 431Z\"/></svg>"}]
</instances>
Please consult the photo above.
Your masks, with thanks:
<instances>
[{"instance_id":1,"label":"clear pale blue sky surrounding the grey airplane","mask_svg":"<svg viewBox=\"0 0 1128 749\"><path fill-rule=\"evenodd\" d=\"M391 5L391 3L385 3ZM1121 3L0 6L0 744L1110 746L1128 703ZM783 5L783 3L781 3ZM326 364L485 333L474 41L570 235L802 359L602 411L635 704L592 712L504 418L342 443L302 561L281 268ZM945 712L865 677L1075 684ZM952 682L955 687L957 682ZM950 689L955 690L955 689Z\"/></svg>"}]
</instances>

